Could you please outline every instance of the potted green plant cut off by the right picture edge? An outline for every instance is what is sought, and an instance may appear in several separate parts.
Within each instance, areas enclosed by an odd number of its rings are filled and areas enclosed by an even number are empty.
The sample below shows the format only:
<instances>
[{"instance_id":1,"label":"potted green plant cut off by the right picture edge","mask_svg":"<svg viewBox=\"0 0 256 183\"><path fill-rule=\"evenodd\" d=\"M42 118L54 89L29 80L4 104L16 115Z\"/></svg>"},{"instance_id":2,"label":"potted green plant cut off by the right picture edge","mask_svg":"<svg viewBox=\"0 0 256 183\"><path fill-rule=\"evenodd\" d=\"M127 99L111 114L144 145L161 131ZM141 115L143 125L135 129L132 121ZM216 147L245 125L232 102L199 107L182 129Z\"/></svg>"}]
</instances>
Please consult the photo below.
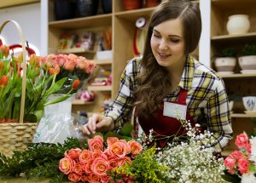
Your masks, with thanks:
<instances>
[{"instance_id":1,"label":"potted green plant cut off by the right picture edge","mask_svg":"<svg viewBox=\"0 0 256 183\"><path fill-rule=\"evenodd\" d=\"M246 44L241 49L241 56L238 58L239 66L242 73L252 72L256 70L256 45Z\"/></svg>"}]
</instances>

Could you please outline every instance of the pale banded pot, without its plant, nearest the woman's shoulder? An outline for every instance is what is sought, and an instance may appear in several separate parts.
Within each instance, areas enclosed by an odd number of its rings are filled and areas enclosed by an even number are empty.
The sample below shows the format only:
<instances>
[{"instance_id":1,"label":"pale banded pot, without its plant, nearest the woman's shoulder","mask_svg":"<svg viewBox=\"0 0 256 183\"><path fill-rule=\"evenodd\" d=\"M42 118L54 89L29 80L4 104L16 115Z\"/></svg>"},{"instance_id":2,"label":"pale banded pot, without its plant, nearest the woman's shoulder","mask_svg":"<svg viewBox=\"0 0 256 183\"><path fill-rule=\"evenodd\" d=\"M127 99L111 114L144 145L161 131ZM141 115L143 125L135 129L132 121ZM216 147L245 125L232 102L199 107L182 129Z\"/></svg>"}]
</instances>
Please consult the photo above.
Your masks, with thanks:
<instances>
[{"instance_id":1,"label":"pale banded pot, without its plant, nearest the woman's shoulder","mask_svg":"<svg viewBox=\"0 0 256 183\"><path fill-rule=\"evenodd\" d=\"M215 60L217 71L234 71L236 66L236 58L233 57L218 57Z\"/></svg>"}]
</instances>

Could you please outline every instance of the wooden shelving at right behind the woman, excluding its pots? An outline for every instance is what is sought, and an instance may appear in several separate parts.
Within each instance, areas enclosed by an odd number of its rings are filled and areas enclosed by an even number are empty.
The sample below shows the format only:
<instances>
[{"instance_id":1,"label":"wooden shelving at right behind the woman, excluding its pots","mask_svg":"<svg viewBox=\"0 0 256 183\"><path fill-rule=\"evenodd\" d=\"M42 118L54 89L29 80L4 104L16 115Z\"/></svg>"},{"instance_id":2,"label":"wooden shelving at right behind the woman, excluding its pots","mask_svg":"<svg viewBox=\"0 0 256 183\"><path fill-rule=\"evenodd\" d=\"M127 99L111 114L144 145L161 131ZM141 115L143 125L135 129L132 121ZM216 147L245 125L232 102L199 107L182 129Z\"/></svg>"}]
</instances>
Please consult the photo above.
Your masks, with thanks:
<instances>
[{"instance_id":1,"label":"wooden shelving at right behind the woman, excluding its pots","mask_svg":"<svg viewBox=\"0 0 256 183\"><path fill-rule=\"evenodd\" d=\"M256 2L254 0L212 0L211 1L211 58L220 50L234 48L241 50L245 44L256 44ZM232 14L247 14L251 22L250 30L245 34L229 35L226 25L228 17ZM209 55L209 60L210 55ZM211 66L214 68L213 59ZM256 95L256 74L241 74L241 68L236 63L235 73L222 76L228 93L240 96ZM234 139L227 146L226 151L236 149L234 144L236 134L253 131L252 117L256 114L246 114L240 100L235 100L231 122L234 130Z\"/></svg>"}]
</instances>

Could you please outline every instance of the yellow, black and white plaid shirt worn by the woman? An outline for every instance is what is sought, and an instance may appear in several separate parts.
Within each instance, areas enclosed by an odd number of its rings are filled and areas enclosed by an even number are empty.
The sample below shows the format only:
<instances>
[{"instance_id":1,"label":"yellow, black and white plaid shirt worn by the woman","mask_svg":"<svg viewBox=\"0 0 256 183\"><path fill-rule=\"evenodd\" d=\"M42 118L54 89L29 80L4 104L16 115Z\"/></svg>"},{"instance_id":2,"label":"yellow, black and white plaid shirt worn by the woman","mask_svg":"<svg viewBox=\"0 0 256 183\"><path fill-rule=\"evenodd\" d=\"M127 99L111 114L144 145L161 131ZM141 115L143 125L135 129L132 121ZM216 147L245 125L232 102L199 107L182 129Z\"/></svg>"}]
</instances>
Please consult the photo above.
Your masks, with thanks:
<instances>
[{"instance_id":1,"label":"yellow, black and white plaid shirt worn by the woman","mask_svg":"<svg viewBox=\"0 0 256 183\"><path fill-rule=\"evenodd\" d=\"M140 71L140 59L135 58L128 62L120 79L119 93L113 104L104 112L105 116L113 118L117 130L128 121L132 112L136 100L133 92L137 87L136 77ZM211 144L212 151L220 152L231 140L233 133L228 97L223 80L218 73L189 56L177 90L168 94L164 100L177 100L180 88L188 91L186 103L189 114L195 122L201 115L201 108L204 109L207 117L207 129L213 133L213 137L216 139Z\"/></svg>"}]
</instances>

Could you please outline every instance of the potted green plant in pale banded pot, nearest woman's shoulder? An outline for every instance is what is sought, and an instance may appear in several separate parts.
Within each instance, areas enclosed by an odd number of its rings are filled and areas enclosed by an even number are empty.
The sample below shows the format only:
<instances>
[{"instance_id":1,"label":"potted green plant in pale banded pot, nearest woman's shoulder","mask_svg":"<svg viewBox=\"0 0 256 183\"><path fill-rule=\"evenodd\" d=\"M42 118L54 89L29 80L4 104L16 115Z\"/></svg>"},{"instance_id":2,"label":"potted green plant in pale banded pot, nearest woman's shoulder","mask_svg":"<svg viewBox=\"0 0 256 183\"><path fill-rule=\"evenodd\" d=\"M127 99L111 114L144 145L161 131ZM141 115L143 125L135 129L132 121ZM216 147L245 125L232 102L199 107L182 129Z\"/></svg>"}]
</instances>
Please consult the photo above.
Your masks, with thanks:
<instances>
[{"instance_id":1,"label":"potted green plant in pale banded pot, nearest woman's shoulder","mask_svg":"<svg viewBox=\"0 0 256 183\"><path fill-rule=\"evenodd\" d=\"M221 50L214 61L217 71L232 73L236 66L236 50L226 48Z\"/></svg>"}]
</instances>

